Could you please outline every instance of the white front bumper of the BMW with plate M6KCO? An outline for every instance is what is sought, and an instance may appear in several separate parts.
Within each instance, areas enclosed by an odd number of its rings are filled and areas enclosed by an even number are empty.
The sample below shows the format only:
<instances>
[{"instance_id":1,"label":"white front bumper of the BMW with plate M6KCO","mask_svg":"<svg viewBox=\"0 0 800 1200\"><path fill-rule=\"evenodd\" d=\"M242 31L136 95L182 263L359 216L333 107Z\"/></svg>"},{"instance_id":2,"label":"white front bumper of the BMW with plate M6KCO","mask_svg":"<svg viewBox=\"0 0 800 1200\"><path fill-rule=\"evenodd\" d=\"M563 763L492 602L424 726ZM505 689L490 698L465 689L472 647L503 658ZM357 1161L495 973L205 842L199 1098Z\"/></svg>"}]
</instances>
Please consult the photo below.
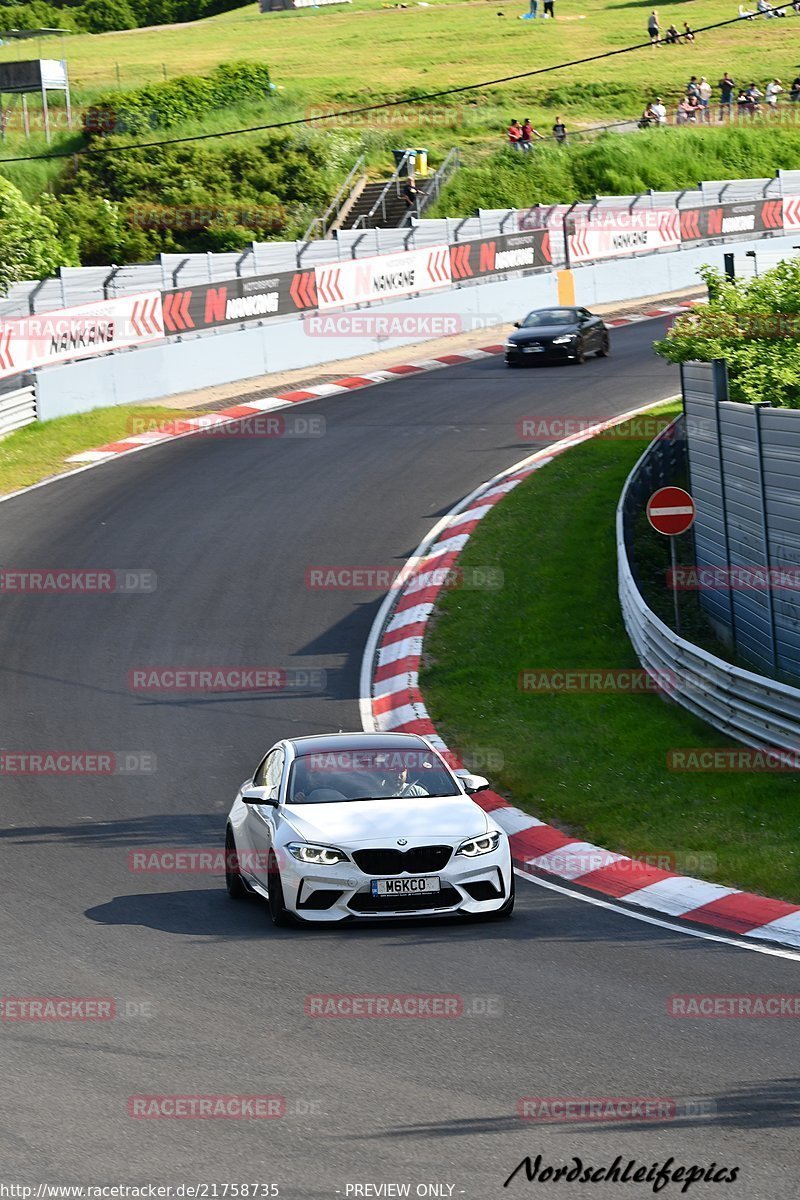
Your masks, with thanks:
<instances>
[{"instance_id":1,"label":"white front bumper of the BMW with plate M6KCO","mask_svg":"<svg viewBox=\"0 0 800 1200\"><path fill-rule=\"evenodd\" d=\"M349 853L347 847L342 848ZM495 912L503 907L511 889L509 841L503 838L495 851L477 858L453 853L445 868L431 874L440 881L441 890L438 893L373 896L373 880L403 876L369 875L354 862L309 866L285 856L281 865L281 883L287 908L308 922Z\"/></svg>"}]
</instances>

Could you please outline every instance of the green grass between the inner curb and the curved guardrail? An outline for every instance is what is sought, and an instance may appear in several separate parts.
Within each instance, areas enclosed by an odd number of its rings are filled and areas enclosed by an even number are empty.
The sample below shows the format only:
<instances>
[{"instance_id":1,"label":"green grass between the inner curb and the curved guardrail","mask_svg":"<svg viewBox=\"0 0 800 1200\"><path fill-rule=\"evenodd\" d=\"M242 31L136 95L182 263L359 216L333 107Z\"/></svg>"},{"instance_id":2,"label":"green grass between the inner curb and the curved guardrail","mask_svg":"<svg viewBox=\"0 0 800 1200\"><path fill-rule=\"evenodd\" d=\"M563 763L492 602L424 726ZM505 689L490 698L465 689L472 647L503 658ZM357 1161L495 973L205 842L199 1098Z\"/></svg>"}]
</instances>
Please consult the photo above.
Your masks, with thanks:
<instances>
[{"instance_id":1,"label":"green grass between the inner curb and the curved guardrail","mask_svg":"<svg viewBox=\"0 0 800 1200\"><path fill-rule=\"evenodd\" d=\"M668 413L664 408L660 412ZM518 808L631 856L697 854L686 874L800 901L800 779L678 773L670 749L735 745L657 695L518 688L521 671L638 667L616 598L614 512L642 443L596 438L517 487L461 564L503 588L447 593L421 683L451 746L501 763Z\"/></svg>"}]
</instances>

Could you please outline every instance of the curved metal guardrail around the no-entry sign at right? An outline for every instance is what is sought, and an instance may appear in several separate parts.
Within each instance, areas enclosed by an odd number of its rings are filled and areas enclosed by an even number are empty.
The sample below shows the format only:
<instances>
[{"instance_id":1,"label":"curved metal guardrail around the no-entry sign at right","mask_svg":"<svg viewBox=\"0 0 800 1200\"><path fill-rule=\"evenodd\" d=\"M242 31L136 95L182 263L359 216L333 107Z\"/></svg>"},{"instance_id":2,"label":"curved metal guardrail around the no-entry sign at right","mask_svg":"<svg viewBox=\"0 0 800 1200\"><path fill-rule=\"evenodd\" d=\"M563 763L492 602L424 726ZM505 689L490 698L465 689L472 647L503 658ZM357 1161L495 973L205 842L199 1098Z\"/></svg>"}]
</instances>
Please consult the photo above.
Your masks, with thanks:
<instances>
[{"instance_id":1,"label":"curved metal guardrail around the no-entry sign at right","mask_svg":"<svg viewBox=\"0 0 800 1200\"><path fill-rule=\"evenodd\" d=\"M664 452L682 416L651 443L625 481L616 506L616 559L622 619L642 666L668 682L668 694L696 716L758 750L800 751L800 688L745 671L679 637L644 601L630 562L632 514L646 486L674 478Z\"/></svg>"}]
</instances>

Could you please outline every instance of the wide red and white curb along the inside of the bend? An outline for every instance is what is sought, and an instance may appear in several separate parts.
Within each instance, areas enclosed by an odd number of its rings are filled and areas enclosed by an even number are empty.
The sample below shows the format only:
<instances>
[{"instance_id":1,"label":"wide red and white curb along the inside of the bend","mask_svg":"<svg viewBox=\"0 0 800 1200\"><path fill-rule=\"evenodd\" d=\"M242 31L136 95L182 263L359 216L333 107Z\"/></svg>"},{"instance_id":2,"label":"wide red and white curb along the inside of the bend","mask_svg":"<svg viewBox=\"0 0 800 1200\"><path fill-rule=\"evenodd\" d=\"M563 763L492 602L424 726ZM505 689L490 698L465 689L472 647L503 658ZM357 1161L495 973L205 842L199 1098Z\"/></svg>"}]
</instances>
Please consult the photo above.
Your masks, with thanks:
<instances>
[{"instance_id":1,"label":"wide red and white curb along the inside of the bend","mask_svg":"<svg viewBox=\"0 0 800 1200\"><path fill-rule=\"evenodd\" d=\"M431 721L419 688L425 630L447 571L480 521L523 480L565 450L645 410L636 409L594 425L530 455L481 485L435 526L403 568L375 618L361 673L361 720L366 730L421 733L452 766L461 766ZM512 808L497 792L481 792L475 799L510 835L515 866L523 875L540 882L566 881L582 889L581 895L585 889L660 918L691 923L668 925L672 929L691 931L697 926L717 935L733 934L800 949L799 905L751 895L613 853Z\"/></svg>"}]
</instances>

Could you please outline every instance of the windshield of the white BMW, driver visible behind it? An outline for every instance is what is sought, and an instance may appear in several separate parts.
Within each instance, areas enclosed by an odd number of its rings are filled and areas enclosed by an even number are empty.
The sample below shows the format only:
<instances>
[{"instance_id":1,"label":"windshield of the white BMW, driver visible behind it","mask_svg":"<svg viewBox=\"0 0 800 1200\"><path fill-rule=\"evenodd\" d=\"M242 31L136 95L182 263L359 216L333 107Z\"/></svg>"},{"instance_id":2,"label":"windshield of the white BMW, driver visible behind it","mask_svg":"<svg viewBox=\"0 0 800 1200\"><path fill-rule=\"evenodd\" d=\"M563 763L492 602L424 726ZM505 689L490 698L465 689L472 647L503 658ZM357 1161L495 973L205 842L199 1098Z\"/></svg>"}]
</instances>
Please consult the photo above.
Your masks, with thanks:
<instances>
[{"instance_id":1,"label":"windshield of the white BMW, driver visible behind it","mask_svg":"<svg viewBox=\"0 0 800 1200\"><path fill-rule=\"evenodd\" d=\"M287 804L459 794L432 750L371 746L299 755L291 763Z\"/></svg>"}]
</instances>

